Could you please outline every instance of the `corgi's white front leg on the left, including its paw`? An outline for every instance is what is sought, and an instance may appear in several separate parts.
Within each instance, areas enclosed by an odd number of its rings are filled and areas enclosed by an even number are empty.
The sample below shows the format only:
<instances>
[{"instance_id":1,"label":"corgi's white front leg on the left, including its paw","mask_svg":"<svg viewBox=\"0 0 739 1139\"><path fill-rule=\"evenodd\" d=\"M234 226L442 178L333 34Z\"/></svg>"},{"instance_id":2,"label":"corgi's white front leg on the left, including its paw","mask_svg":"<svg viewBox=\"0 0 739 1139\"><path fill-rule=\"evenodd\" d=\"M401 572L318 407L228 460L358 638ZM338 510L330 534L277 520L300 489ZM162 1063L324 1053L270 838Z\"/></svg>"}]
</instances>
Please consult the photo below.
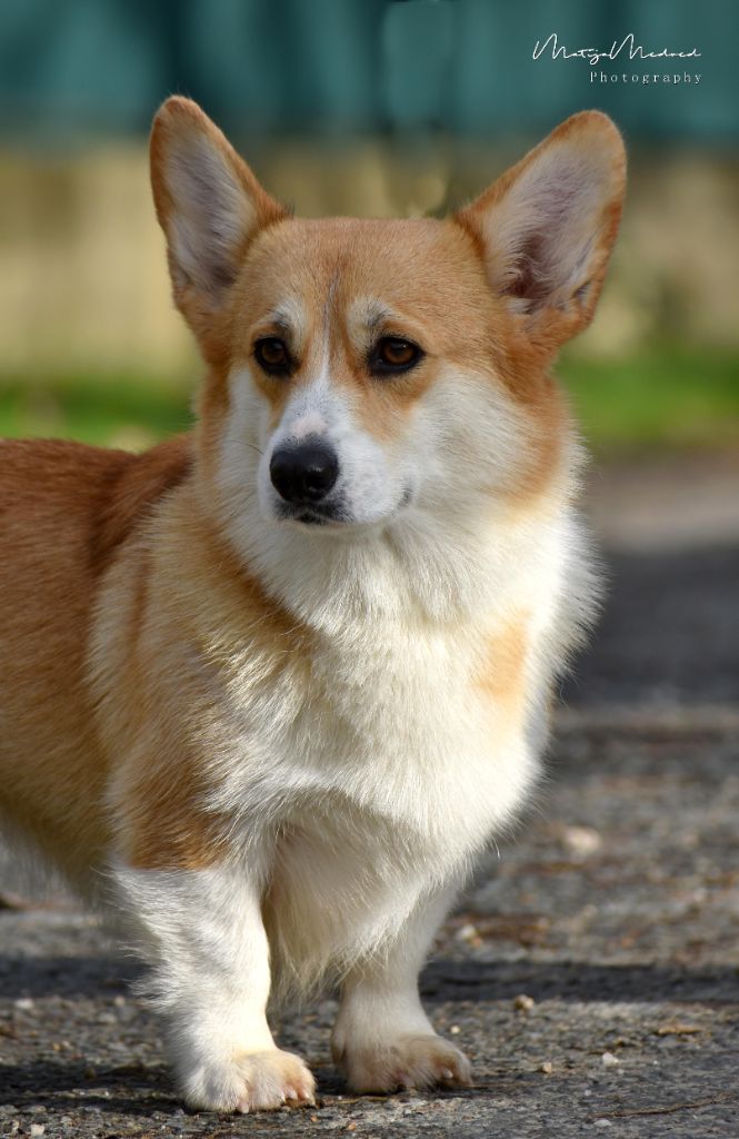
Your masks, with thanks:
<instances>
[{"instance_id":1,"label":"corgi's white front leg on the left, including its paw","mask_svg":"<svg viewBox=\"0 0 739 1139\"><path fill-rule=\"evenodd\" d=\"M266 1023L269 945L257 876L243 868L133 870L116 882L153 966L180 1090L196 1108L252 1112L313 1101L314 1081Z\"/></svg>"}]
</instances>

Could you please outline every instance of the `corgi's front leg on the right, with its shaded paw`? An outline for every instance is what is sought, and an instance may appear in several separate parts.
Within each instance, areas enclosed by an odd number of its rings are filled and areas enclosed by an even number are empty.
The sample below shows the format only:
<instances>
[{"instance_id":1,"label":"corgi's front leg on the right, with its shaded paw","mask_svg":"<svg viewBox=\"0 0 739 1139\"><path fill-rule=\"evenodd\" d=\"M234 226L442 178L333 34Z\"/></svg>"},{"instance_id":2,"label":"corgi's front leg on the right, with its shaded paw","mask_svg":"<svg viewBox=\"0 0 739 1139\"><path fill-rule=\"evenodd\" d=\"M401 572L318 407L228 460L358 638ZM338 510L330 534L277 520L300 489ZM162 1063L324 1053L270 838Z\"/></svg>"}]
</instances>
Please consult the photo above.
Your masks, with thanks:
<instances>
[{"instance_id":1,"label":"corgi's front leg on the right, with its shaded paw","mask_svg":"<svg viewBox=\"0 0 739 1139\"><path fill-rule=\"evenodd\" d=\"M345 978L331 1051L355 1091L470 1082L469 1060L436 1034L418 994L418 974L450 901L445 893L419 904L389 952Z\"/></svg>"}]
</instances>

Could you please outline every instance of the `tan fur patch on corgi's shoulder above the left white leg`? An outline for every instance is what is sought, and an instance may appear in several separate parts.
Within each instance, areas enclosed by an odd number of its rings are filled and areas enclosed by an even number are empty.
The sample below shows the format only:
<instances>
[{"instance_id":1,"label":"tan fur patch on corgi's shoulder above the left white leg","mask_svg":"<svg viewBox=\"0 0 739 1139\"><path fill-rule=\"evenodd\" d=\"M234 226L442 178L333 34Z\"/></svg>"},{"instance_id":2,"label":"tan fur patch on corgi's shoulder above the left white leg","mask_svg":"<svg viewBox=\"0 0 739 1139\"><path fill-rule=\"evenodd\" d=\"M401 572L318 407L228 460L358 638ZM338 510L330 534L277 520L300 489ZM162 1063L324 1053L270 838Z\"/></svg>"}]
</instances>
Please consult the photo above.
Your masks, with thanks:
<instances>
[{"instance_id":1,"label":"tan fur patch on corgi's shoulder above the left white leg","mask_svg":"<svg viewBox=\"0 0 739 1139\"><path fill-rule=\"evenodd\" d=\"M146 592L129 567L112 571L93 652L109 746L130 741L112 793L120 851L140 868L203 868L223 859L232 825L207 802L208 751L217 752L219 743L214 699L228 683L230 646L248 645L269 675L282 671L285 661L299 669L310 633L238 565L191 484L162 503L132 544ZM126 613L131 620L122 631ZM189 638L198 659L178 634ZM191 749L195 724L202 755Z\"/></svg>"}]
</instances>

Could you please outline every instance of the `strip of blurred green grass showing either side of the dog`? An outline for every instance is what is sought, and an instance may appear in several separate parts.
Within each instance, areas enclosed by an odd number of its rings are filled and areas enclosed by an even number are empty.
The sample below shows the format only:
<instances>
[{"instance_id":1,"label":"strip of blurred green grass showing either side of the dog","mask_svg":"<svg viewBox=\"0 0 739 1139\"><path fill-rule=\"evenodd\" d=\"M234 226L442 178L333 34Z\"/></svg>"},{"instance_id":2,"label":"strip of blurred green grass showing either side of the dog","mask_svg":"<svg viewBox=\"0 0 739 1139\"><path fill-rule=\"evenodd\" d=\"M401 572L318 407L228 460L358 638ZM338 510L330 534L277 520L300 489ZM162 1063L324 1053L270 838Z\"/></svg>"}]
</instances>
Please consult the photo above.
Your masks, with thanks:
<instances>
[{"instance_id":1,"label":"strip of blurred green grass showing either side of the dog","mask_svg":"<svg viewBox=\"0 0 739 1139\"><path fill-rule=\"evenodd\" d=\"M565 353L557 372L600 452L739 444L739 355L648 349L624 359ZM181 379L117 375L0 376L0 435L57 436L133 450L191 423Z\"/></svg>"}]
</instances>

